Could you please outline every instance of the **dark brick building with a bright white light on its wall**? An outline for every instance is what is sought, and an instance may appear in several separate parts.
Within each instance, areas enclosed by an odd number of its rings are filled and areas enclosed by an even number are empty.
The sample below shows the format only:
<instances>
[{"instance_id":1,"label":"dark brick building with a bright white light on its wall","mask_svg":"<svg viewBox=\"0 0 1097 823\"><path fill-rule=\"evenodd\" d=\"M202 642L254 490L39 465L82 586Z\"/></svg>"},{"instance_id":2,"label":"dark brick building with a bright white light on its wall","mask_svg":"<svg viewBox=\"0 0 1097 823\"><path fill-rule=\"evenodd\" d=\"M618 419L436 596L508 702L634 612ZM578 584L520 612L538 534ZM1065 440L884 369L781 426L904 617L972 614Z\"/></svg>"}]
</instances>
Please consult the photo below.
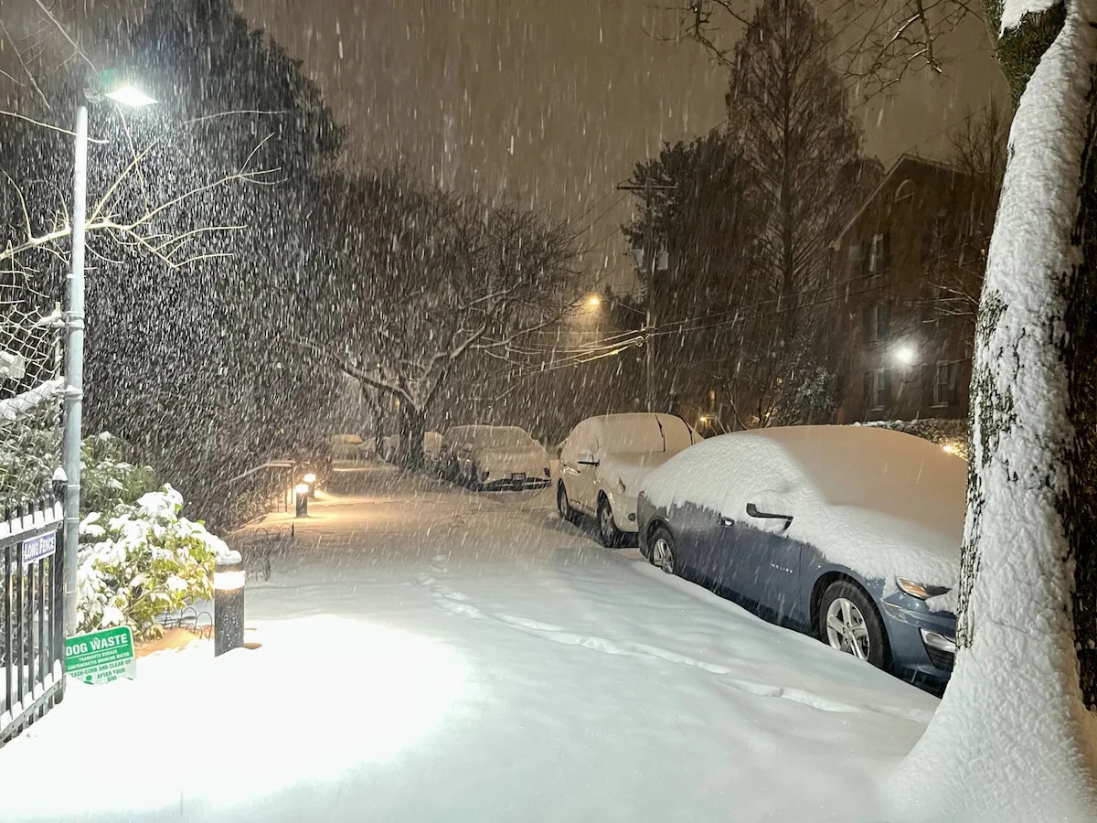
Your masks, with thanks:
<instances>
[{"instance_id":1,"label":"dark brick building with a bright white light on its wall","mask_svg":"<svg viewBox=\"0 0 1097 823\"><path fill-rule=\"evenodd\" d=\"M976 189L904 155L830 245L837 422L968 415L988 226Z\"/></svg>"}]
</instances>

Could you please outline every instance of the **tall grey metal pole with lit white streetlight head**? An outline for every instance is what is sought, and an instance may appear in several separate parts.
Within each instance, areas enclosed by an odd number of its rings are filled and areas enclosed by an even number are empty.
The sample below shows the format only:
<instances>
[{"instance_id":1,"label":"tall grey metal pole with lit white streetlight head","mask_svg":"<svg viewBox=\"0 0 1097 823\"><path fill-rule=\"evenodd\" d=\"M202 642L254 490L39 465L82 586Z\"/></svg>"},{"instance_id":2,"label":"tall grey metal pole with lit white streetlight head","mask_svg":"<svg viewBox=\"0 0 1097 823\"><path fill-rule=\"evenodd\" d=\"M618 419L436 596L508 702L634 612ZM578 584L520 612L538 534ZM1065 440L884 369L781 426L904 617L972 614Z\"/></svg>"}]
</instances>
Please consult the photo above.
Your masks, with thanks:
<instances>
[{"instance_id":1,"label":"tall grey metal pole with lit white streetlight head","mask_svg":"<svg viewBox=\"0 0 1097 823\"><path fill-rule=\"evenodd\" d=\"M76 108L76 151L72 164L72 270L68 277L65 313L65 631L76 629L76 566L80 541L80 421L83 416L83 251L88 221L88 103L110 98L123 105L144 106L156 101L134 86L104 71L95 91L84 92Z\"/></svg>"}]
</instances>

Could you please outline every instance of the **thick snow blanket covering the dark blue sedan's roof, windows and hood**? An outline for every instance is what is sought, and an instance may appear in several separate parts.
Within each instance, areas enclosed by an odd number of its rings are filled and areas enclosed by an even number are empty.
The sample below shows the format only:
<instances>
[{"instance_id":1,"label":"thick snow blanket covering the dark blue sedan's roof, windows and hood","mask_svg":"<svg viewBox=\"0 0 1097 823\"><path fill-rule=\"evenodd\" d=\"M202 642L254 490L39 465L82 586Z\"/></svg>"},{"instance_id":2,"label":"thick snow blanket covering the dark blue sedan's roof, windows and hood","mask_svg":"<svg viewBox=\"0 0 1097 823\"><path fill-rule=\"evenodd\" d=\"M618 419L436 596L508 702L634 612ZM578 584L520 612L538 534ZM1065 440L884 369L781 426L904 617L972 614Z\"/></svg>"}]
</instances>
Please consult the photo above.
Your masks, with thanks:
<instances>
[{"instance_id":1,"label":"thick snow blanket covering the dark blue sedan's roof, windows and hood","mask_svg":"<svg viewBox=\"0 0 1097 823\"><path fill-rule=\"evenodd\" d=\"M864 577L953 586L966 464L887 429L795 426L711 438L648 475L644 493L751 523L747 503L793 515L788 537Z\"/></svg>"}]
</instances>

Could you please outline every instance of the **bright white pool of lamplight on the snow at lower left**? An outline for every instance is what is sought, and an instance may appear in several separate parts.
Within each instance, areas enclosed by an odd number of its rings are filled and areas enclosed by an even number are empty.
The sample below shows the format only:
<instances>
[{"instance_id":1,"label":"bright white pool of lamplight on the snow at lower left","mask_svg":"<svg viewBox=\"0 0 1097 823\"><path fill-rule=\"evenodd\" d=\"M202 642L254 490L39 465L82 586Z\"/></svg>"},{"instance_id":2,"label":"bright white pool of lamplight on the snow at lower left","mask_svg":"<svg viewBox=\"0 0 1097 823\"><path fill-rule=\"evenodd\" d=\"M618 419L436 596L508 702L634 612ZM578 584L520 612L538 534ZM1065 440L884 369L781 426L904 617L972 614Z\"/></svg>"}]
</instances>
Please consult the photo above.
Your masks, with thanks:
<instances>
[{"instance_id":1,"label":"bright white pool of lamplight on the snow at lower left","mask_svg":"<svg viewBox=\"0 0 1097 823\"><path fill-rule=\"evenodd\" d=\"M467 666L451 649L362 620L272 621L252 639L261 649L216 659L212 643L143 658L132 683L70 684L65 703L36 726L41 737L32 732L4 753L0 792L27 808L5 800L3 819L224 810L337 783L428 736L465 691ZM160 743L155 754L125 757L120 793L76 753L100 751L135 722ZM72 756L59 762L61 751ZM64 797L3 789L47 779L66 787Z\"/></svg>"}]
</instances>

